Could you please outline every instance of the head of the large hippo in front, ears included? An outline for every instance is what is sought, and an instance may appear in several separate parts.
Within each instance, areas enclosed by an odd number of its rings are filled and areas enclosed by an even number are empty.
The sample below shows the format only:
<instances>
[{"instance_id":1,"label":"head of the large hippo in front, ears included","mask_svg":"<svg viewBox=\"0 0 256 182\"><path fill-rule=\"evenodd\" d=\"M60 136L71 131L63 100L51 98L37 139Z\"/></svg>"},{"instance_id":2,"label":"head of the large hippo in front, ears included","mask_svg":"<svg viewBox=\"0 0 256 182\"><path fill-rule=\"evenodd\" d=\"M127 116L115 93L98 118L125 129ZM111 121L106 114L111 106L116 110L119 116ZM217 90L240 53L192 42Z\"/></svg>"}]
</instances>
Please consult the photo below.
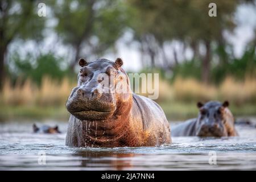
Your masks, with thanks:
<instances>
[{"instance_id":1,"label":"head of the large hippo in front, ears included","mask_svg":"<svg viewBox=\"0 0 256 182\"><path fill-rule=\"evenodd\" d=\"M115 62L97 59L90 63L80 59L78 84L66 104L69 113L81 121L94 121L108 119L114 113L116 117L130 109L130 82L122 64L119 58Z\"/></svg>"}]
</instances>

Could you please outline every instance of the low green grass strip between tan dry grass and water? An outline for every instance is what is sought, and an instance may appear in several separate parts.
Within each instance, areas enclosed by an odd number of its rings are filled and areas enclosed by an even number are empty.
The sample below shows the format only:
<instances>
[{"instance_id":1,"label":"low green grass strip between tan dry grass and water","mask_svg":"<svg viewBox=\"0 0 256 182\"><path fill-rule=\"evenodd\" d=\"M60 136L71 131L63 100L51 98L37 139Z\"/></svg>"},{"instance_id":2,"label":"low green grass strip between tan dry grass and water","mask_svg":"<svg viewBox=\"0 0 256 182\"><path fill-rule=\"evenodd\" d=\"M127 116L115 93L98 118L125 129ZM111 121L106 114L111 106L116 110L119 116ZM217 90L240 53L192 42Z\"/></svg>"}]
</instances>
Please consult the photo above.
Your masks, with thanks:
<instances>
[{"instance_id":1,"label":"low green grass strip between tan dry grass and water","mask_svg":"<svg viewBox=\"0 0 256 182\"><path fill-rule=\"evenodd\" d=\"M181 121L197 117L196 103L190 102L159 102L166 117L170 121ZM254 104L242 106L231 105L230 110L234 117L254 116L256 113ZM0 106L0 121L15 119L56 119L68 121L69 113L65 106Z\"/></svg>"}]
</instances>

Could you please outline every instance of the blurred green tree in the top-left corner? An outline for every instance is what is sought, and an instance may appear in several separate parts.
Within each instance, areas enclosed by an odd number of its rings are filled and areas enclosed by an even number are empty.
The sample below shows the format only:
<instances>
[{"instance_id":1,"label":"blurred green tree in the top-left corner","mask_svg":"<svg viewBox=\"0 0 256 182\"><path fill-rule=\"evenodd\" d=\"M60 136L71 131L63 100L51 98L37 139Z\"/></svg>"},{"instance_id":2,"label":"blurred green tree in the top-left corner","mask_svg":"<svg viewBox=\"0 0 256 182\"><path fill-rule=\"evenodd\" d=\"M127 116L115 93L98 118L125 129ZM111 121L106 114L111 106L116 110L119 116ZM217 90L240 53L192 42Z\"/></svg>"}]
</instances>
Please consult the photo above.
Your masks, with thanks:
<instances>
[{"instance_id":1,"label":"blurred green tree in the top-left corner","mask_svg":"<svg viewBox=\"0 0 256 182\"><path fill-rule=\"evenodd\" d=\"M37 15L37 1L0 1L0 88L5 79L9 45L16 39L42 39L45 18Z\"/></svg>"}]
</instances>

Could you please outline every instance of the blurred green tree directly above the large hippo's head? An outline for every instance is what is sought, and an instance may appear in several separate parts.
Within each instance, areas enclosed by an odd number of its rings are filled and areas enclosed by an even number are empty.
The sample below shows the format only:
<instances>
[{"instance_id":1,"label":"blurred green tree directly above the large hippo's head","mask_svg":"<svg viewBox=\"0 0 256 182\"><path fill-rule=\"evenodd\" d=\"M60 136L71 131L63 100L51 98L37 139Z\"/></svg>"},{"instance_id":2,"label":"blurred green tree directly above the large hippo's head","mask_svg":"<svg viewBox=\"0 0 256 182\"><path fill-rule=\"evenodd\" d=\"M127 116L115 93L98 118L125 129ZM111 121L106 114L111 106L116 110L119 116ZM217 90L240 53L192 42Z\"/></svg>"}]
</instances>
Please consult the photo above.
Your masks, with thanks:
<instances>
[{"instance_id":1,"label":"blurred green tree directly above the large hippo's head","mask_svg":"<svg viewBox=\"0 0 256 182\"><path fill-rule=\"evenodd\" d=\"M75 52L71 69L81 53L88 59L113 48L126 28L125 6L120 0L54 1L52 10L58 21L57 34Z\"/></svg>"}]
</instances>

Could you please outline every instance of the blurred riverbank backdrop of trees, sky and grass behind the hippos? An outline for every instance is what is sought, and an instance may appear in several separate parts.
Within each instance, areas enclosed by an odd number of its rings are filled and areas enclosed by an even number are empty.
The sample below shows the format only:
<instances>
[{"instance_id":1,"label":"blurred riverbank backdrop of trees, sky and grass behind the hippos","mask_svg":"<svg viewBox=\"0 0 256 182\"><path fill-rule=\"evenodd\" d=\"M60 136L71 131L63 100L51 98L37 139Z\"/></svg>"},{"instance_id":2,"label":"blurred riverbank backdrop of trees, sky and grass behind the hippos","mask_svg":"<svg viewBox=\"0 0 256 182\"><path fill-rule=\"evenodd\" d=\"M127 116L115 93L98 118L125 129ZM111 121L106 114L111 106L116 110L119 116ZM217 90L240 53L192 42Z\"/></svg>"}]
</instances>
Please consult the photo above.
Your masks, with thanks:
<instances>
[{"instance_id":1,"label":"blurred riverbank backdrop of trees, sky and grass behind the hippos","mask_svg":"<svg viewBox=\"0 0 256 182\"><path fill-rule=\"evenodd\" d=\"M0 119L67 120L80 57L159 73L156 102L170 120L209 100L255 116L255 49L256 1L0 0Z\"/></svg>"}]
</instances>

